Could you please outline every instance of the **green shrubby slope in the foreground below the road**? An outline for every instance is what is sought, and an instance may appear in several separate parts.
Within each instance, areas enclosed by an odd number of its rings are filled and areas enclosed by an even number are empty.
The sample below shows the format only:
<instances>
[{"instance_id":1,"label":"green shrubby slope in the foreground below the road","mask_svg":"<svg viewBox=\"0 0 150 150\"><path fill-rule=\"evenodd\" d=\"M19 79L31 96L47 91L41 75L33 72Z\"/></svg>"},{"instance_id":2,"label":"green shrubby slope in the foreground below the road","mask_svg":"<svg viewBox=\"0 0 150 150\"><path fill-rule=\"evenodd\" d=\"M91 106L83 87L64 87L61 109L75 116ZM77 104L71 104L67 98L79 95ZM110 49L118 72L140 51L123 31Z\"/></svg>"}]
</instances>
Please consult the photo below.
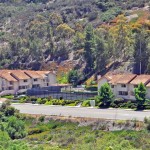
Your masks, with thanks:
<instances>
[{"instance_id":1,"label":"green shrubby slope in the foreground below the road","mask_svg":"<svg viewBox=\"0 0 150 150\"><path fill-rule=\"evenodd\" d=\"M73 119L72 123L67 118L53 120L44 116L26 116L8 102L2 104L0 111L1 150L150 149L148 118L144 123L137 120L99 120L91 124L84 119Z\"/></svg>"}]
</instances>

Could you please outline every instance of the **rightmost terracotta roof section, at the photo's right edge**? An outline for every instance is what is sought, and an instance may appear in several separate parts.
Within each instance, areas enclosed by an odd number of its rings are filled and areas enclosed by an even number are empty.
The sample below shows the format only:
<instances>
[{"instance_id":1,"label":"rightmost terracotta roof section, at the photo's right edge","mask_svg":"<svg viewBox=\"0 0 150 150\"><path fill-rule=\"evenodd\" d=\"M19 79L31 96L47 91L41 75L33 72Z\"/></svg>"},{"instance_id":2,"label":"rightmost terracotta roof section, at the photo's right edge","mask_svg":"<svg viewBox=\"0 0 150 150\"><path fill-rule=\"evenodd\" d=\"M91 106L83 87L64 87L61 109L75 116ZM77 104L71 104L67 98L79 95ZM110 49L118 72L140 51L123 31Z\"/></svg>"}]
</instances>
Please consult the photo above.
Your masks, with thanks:
<instances>
[{"instance_id":1,"label":"rightmost terracotta roof section, at the photo's right edge","mask_svg":"<svg viewBox=\"0 0 150 150\"><path fill-rule=\"evenodd\" d=\"M150 75L138 75L130 84L138 85L140 83L147 84L150 81Z\"/></svg>"}]
</instances>

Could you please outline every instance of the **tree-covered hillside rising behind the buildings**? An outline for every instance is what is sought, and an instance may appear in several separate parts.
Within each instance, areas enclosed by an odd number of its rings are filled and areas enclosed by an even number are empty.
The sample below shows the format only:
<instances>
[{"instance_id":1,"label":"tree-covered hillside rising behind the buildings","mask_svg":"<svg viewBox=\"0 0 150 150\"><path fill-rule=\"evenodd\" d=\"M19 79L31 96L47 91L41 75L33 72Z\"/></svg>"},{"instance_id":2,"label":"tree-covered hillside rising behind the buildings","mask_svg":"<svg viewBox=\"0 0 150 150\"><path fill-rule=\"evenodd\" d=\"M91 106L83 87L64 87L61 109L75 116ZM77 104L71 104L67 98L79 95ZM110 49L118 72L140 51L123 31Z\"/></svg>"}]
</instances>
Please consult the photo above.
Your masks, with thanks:
<instances>
[{"instance_id":1,"label":"tree-covered hillside rising behind the buildings","mask_svg":"<svg viewBox=\"0 0 150 150\"><path fill-rule=\"evenodd\" d=\"M148 72L148 2L0 0L0 67L59 70L60 74L74 68L82 79L118 66L138 73L139 64L133 66L139 60L135 37L144 30L147 43L142 43L146 52L141 72ZM120 14L124 16L117 17Z\"/></svg>"}]
</instances>

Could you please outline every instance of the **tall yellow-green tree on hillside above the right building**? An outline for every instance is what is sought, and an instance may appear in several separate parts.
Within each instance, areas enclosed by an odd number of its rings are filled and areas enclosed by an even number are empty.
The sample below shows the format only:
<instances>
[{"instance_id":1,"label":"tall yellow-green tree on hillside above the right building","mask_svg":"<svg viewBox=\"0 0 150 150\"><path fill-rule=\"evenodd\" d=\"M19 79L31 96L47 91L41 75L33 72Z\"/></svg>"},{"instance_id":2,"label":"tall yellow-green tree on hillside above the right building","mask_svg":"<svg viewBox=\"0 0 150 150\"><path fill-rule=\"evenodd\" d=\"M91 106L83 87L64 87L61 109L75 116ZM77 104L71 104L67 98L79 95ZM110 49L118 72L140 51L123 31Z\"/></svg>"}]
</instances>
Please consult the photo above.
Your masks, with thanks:
<instances>
[{"instance_id":1,"label":"tall yellow-green tree on hillside above the right building","mask_svg":"<svg viewBox=\"0 0 150 150\"><path fill-rule=\"evenodd\" d=\"M109 34L109 42L111 44L114 61L118 60L118 58L121 60L127 59L130 55L132 55L132 51L130 49L133 44L132 30L127 23L126 17L119 15L116 25L110 28Z\"/></svg>"}]
</instances>

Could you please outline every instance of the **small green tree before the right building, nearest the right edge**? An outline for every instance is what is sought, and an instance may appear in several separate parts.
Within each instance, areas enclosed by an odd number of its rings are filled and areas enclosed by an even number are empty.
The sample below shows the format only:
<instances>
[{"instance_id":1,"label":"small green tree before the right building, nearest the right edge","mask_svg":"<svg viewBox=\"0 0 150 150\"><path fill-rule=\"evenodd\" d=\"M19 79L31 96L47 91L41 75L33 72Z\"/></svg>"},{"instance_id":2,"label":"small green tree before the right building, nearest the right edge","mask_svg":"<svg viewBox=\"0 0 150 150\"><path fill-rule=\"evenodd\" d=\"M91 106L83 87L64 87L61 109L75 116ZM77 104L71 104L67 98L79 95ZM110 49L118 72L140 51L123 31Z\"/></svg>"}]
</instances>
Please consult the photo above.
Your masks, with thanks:
<instances>
[{"instance_id":1,"label":"small green tree before the right building, nearest the right edge","mask_svg":"<svg viewBox=\"0 0 150 150\"><path fill-rule=\"evenodd\" d=\"M146 87L143 83L140 83L134 90L135 98L137 100L138 108L140 108L146 100Z\"/></svg>"}]
</instances>

